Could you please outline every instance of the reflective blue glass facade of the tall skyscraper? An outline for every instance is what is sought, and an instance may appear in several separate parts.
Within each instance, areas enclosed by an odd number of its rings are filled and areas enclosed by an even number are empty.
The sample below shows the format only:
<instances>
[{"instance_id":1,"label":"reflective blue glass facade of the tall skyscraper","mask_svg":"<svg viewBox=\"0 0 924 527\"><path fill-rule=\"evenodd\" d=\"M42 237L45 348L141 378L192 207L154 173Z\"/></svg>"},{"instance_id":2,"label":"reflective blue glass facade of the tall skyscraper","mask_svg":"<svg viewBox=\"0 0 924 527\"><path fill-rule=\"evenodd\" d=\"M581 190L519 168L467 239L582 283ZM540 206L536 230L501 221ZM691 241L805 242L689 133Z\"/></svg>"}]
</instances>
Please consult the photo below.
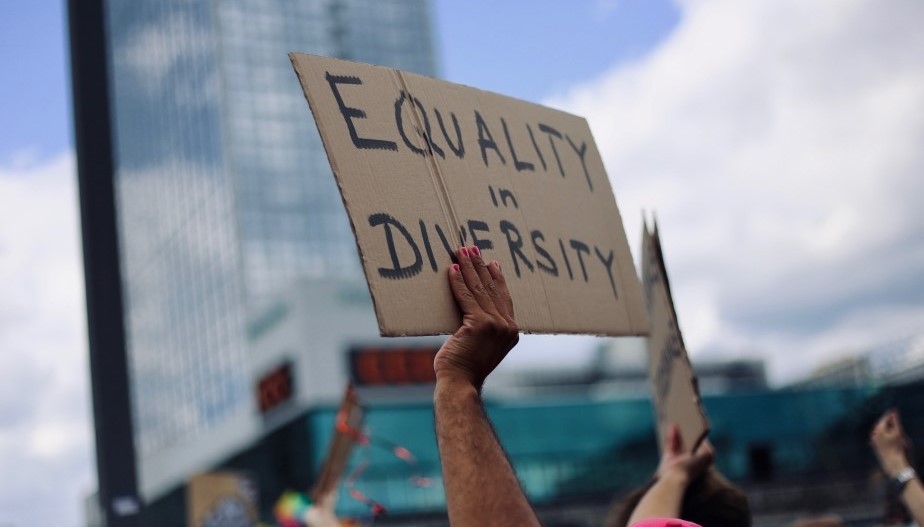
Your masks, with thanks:
<instances>
[{"instance_id":1,"label":"reflective blue glass facade of the tall skyscraper","mask_svg":"<svg viewBox=\"0 0 924 527\"><path fill-rule=\"evenodd\" d=\"M427 0L107 0L116 205L142 488L253 411L248 314L361 279L287 53L435 73ZM147 467L147 468L146 468Z\"/></svg>"}]
</instances>

